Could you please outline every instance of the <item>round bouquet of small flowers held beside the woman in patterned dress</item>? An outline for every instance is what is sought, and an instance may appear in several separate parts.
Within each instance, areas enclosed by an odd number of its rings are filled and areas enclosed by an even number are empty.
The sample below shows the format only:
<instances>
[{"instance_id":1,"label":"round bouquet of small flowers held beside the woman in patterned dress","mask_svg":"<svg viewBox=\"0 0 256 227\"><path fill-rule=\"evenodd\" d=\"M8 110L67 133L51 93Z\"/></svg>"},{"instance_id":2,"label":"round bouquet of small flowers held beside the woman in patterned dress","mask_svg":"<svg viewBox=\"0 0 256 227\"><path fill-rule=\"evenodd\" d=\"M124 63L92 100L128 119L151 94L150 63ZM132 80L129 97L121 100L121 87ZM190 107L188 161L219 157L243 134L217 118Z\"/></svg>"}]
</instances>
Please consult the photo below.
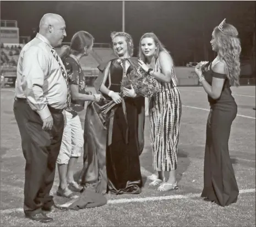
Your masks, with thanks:
<instances>
[{"instance_id":1,"label":"round bouquet of small flowers held beside the woman in patterned dress","mask_svg":"<svg viewBox=\"0 0 256 227\"><path fill-rule=\"evenodd\" d=\"M135 66L130 72L130 82L133 85L135 93L144 97L151 97L159 91L156 79L147 74L141 67Z\"/></svg>"}]
</instances>

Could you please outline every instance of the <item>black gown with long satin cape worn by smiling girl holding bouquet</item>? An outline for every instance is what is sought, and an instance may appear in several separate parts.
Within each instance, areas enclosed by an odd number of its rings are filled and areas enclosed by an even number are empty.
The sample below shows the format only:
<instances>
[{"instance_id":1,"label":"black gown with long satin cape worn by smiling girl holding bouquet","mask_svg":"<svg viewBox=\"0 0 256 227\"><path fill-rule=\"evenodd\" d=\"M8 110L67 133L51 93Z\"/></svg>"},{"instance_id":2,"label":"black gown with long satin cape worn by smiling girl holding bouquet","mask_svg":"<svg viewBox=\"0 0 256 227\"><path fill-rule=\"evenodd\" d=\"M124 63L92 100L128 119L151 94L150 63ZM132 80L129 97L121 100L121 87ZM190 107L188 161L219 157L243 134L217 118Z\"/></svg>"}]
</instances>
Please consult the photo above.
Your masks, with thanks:
<instances>
[{"instance_id":1,"label":"black gown with long satin cape worn by smiling girl holding bouquet","mask_svg":"<svg viewBox=\"0 0 256 227\"><path fill-rule=\"evenodd\" d=\"M133 62L127 74L133 69ZM98 68L100 74L95 81L96 91L102 84L107 63ZM110 90L120 92L123 68L117 59L111 60L111 85L108 80L106 86ZM108 100L110 97L105 96ZM139 154L144 146L145 109L144 97L125 98L127 123L124 118L122 105L114 107L115 115L111 139L108 138L110 113L105 116L100 113L100 106L104 103L89 103L86 110L84 126L84 168L80 174L80 182L85 187L94 187L97 193L106 193L107 188L112 193L139 193L141 174ZM128 143L124 137L128 129ZM108 143L111 145L108 146Z\"/></svg>"}]
</instances>

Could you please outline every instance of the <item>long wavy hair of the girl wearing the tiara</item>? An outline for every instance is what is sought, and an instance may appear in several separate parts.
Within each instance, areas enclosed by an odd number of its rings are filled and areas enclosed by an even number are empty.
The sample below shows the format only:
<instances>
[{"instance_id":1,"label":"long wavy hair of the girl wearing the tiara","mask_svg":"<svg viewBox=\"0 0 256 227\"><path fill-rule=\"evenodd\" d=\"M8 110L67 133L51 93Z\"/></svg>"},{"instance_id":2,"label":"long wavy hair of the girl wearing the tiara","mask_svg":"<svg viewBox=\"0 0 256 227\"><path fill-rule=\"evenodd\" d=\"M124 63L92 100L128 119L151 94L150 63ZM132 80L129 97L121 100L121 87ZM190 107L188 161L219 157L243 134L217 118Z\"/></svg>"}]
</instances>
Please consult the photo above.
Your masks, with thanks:
<instances>
[{"instance_id":1,"label":"long wavy hair of the girl wearing the tiara","mask_svg":"<svg viewBox=\"0 0 256 227\"><path fill-rule=\"evenodd\" d=\"M214 29L217 53L221 60L226 63L225 73L231 85L239 86L241 42L238 31L231 24L224 24L222 30Z\"/></svg>"}]
</instances>

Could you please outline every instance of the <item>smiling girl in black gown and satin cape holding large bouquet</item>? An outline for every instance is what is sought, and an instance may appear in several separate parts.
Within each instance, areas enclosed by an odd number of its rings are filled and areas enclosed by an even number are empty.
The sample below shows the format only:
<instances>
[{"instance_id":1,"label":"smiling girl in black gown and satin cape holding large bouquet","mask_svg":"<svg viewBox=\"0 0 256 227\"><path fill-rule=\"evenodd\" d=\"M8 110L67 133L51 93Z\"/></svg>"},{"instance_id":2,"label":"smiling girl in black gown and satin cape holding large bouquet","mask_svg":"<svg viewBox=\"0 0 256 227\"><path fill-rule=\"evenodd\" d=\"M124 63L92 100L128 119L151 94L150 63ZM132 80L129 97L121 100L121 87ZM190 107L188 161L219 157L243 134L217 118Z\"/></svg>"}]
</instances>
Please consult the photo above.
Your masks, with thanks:
<instances>
[{"instance_id":1,"label":"smiling girl in black gown and satin cape holding large bouquet","mask_svg":"<svg viewBox=\"0 0 256 227\"><path fill-rule=\"evenodd\" d=\"M85 147L85 165L81 178L82 183L90 183L98 193L107 190L116 195L140 193L142 182L139 154L144 145L141 143L144 141L141 130L144 128L144 97L137 97L132 87L121 88L122 80L129 78L133 65L138 65L138 58L132 57L133 41L129 34L113 32L111 38L118 58L110 60L103 69L101 65L98 67L103 75L95 81L95 88L104 95L105 102L114 101L116 105L107 113L106 122L102 121L101 126L99 124L100 132L96 130L99 120L91 120L90 123L90 119L86 118L85 134L88 138L85 137L85 145L88 147ZM99 106L102 105L99 103ZM89 112L87 110L86 113L90 118L92 107L88 106ZM99 119L102 118L101 113L97 114Z\"/></svg>"}]
</instances>

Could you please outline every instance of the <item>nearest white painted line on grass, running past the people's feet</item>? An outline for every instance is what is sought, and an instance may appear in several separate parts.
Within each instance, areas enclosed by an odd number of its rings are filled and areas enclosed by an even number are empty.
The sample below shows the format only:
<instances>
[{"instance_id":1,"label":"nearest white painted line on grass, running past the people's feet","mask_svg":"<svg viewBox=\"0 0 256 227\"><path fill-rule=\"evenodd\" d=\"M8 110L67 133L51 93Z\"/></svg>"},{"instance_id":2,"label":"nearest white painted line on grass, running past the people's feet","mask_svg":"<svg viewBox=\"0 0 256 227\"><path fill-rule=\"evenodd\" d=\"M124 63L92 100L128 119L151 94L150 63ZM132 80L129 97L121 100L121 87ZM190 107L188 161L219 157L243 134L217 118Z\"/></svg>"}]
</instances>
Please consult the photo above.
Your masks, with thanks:
<instances>
[{"instance_id":1,"label":"nearest white painted line on grass, running past the people's feet","mask_svg":"<svg viewBox=\"0 0 256 227\"><path fill-rule=\"evenodd\" d=\"M239 194L246 193L255 193L255 189L241 189ZM143 203L149 201L164 201L164 200L189 200L191 198L200 198L201 193L189 193L186 195L171 195L171 196L152 196L144 198L120 198L118 200L108 200L107 204L124 204L124 203ZM64 203L59 205L61 207L68 207L72 202ZM3 209L1 214L10 214L10 213L21 213L23 208L13 208L13 209Z\"/></svg>"}]
</instances>

